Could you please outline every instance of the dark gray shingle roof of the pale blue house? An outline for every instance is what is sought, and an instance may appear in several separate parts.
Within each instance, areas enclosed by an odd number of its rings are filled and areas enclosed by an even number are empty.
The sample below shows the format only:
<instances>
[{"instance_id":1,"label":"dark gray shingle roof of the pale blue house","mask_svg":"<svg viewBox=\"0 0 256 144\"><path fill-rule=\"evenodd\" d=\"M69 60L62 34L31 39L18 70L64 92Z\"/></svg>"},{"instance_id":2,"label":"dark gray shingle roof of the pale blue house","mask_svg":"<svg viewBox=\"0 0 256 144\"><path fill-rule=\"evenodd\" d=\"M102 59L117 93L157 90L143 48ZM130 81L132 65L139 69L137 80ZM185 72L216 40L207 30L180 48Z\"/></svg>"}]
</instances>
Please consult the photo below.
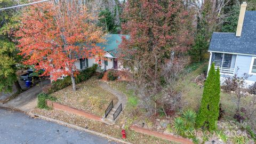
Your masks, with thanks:
<instances>
[{"instance_id":1,"label":"dark gray shingle roof of the pale blue house","mask_svg":"<svg viewBox=\"0 0 256 144\"><path fill-rule=\"evenodd\" d=\"M256 11L246 11L241 37L213 33L209 51L256 55Z\"/></svg>"}]
</instances>

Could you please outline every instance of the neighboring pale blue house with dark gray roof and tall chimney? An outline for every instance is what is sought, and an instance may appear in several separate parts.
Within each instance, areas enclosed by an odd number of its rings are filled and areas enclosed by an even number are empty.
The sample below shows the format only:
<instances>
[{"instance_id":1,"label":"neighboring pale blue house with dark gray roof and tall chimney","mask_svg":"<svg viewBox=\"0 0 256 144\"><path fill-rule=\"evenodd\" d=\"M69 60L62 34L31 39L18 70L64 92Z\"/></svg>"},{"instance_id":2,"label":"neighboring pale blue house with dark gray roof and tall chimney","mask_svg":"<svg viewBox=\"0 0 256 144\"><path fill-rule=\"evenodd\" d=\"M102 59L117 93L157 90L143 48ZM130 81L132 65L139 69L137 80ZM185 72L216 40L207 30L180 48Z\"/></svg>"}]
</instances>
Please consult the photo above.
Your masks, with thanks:
<instances>
[{"instance_id":1,"label":"neighboring pale blue house with dark gray roof and tall chimney","mask_svg":"<svg viewBox=\"0 0 256 144\"><path fill-rule=\"evenodd\" d=\"M236 33L213 33L209 52L209 69L212 62L220 68L221 78L252 75L247 84L256 82L256 11L246 11L241 5Z\"/></svg>"}]
</instances>

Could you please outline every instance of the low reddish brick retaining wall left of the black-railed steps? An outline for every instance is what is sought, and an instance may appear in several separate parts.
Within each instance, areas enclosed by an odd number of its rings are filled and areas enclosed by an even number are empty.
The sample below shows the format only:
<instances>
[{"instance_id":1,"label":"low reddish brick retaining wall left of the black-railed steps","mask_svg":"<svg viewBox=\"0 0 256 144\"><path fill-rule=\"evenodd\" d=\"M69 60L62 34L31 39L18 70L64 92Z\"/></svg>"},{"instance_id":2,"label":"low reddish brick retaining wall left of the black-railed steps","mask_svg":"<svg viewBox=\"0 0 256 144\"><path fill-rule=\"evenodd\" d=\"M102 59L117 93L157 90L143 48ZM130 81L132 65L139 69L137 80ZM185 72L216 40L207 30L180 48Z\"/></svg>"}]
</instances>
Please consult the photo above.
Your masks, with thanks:
<instances>
[{"instance_id":1,"label":"low reddish brick retaining wall left of the black-railed steps","mask_svg":"<svg viewBox=\"0 0 256 144\"><path fill-rule=\"evenodd\" d=\"M84 116L84 117L92 119L94 121L103 122L102 118L97 116L97 115L86 113L83 110L78 110L78 109L75 109L75 108L71 108L69 106L62 105L58 102L52 102L50 100L46 100L46 104L47 104L48 107L51 107L51 108L56 109L56 110L63 110L63 111L66 111L68 113Z\"/></svg>"}]
</instances>

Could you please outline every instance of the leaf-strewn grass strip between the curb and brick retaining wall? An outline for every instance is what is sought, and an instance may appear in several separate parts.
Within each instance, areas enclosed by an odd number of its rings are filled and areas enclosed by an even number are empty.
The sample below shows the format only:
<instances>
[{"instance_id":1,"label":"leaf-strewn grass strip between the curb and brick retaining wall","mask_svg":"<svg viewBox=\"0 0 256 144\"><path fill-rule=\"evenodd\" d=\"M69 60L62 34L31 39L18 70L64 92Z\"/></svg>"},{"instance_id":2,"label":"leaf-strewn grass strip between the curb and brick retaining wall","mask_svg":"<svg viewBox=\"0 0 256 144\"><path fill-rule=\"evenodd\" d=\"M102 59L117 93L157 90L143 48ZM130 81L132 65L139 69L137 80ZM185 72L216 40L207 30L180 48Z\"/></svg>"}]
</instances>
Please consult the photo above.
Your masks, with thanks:
<instances>
[{"instance_id":1,"label":"leaf-strewn grass strip between the curb and brick retaining wall","mask_svg":"<svg viewBox=\"0 0 256 144\"><path fill-rule=\"evenodd\" d=\"M81 127L84 127L89 130L93 130L96 132L100 132L103 134L110 135L111 137L122 139L122 125L121 124L115 124L113 125L107 125L105 123L92 121L90 119L87 119L83 116L78 116L75 114L69 114L65 113L64 111L60 110L45 110L45 109L35 109L33 110L33 113L47 116L53 119L58 119L60 121L64 121L70 124L78 125ZM119 121L119 120L118 120ZM132 143L156 143L156 144L165 144L170 143L174 144L176 142L171 142L167 140L163 140L160 138L152 137L146 134L141 134L135 131L132 131L130 129L126 130L126 139L123 139L124 141L132 142Z\"/></svg>"}]
</instances>

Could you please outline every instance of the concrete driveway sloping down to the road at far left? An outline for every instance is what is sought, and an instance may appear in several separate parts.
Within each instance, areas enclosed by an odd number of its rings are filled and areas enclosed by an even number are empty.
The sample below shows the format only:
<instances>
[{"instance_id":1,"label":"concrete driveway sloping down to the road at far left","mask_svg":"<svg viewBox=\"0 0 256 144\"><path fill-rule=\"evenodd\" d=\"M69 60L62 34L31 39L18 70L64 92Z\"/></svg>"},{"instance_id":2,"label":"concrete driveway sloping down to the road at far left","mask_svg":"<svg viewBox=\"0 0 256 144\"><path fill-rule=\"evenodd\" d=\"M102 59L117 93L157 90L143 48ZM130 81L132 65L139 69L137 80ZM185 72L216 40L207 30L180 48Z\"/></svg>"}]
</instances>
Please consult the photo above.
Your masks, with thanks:
<instances>
[{"instance_id":1,"label":"concrete driveway sloping down to the road at far left","mask_svg":"<svg viewBox=\"0 0 256 144\"><path fill-rule=\"evenodd\" d=\"M25 92L18 95L17 98L10 100L7 103L0 103L1 107L14 108L22 111L31 111L37 105L37 94L42 92L42 87L50 84L50 80L39 82Z\"/></svg>"}]
</instances>

